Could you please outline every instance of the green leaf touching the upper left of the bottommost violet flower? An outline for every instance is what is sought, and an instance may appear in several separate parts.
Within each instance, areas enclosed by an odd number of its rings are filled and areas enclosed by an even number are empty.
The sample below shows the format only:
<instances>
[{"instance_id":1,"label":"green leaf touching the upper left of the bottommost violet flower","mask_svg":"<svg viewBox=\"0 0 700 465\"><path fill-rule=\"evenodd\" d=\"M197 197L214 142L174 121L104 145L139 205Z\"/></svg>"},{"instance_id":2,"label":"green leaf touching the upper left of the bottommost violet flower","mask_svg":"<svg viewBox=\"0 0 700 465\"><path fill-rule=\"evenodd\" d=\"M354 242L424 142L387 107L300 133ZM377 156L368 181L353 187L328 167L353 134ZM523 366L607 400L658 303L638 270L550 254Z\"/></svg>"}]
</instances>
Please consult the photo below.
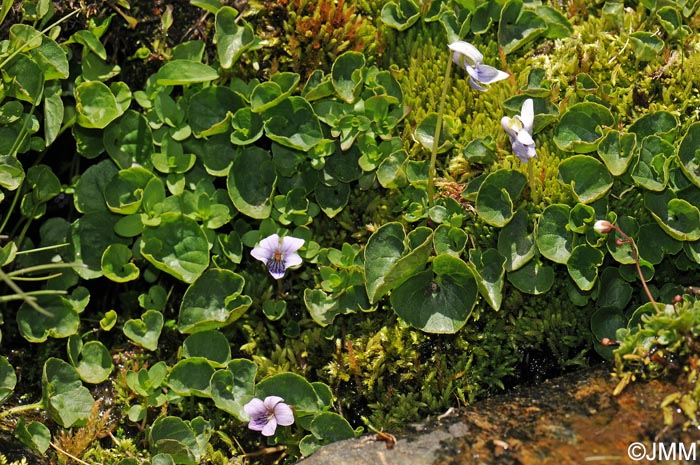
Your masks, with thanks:
<instances>
[{"instance_id":1,"label":"green leaf touching the upper left of the bottommost violet flower","mask_svg":"<svg viewBox=\"0 0 700 465\"><path fill-rule=\"evenodd\" d=\"M255 362L238 358L231 360L225 370L214 373L210 388L214 405L239 421L247 421L248 414L243 406L255 394L257 371L258 366Z\"/></svg>"}]
</instances>

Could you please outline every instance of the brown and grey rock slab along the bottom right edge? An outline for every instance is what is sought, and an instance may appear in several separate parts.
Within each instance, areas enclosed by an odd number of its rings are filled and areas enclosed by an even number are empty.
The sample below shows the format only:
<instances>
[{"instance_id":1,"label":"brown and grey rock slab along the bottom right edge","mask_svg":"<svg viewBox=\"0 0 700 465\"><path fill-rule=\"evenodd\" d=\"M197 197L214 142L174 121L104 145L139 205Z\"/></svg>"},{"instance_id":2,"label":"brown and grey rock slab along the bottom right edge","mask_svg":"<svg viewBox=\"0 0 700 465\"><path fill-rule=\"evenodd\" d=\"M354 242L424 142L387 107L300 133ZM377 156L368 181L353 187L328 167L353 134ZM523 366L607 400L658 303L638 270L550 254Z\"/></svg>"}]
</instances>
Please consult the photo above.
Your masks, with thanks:
<instances>
[{"instance_id":1,"label":"brown and grey rock slab along the bottom right edge","mask_svg":"<svg viewBox=\"0 0 700 465\"><path fill-rule=\"evenodd\" d=\"M684 430L680 414L664 424L659 405L676 392L674 384L633 383L613 397L617 382L610 371L601 366L516 388L394 432L398 441L391 449L368 435L325 446L299 464L700 463L700 430Z\"/></svg>"}]
</instances>

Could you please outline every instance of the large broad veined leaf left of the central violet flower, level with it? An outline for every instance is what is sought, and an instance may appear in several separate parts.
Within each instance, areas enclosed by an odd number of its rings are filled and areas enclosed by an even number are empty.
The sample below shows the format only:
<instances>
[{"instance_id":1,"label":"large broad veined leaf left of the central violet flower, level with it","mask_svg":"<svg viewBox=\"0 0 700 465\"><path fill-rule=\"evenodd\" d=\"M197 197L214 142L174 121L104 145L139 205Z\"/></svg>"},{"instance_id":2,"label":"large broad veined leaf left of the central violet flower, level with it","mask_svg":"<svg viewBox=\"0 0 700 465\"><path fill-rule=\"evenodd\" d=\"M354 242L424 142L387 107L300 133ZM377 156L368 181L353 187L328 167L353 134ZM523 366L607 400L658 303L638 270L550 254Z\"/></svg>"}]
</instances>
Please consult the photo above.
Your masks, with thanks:
<instances>
[{"instance_id":1,"label":"large broad veined leaf left of the central violet flower, level with it","mask_svg":"<svg viewBox=\"0 0 700 465\"><path fill-rule=\"evenodd\" d=\"M209 241L187 216L165 213L158 226L144 229L141 239L144 258L186 283L194 282L209 266Z\"/></svg>"}]
</instances>

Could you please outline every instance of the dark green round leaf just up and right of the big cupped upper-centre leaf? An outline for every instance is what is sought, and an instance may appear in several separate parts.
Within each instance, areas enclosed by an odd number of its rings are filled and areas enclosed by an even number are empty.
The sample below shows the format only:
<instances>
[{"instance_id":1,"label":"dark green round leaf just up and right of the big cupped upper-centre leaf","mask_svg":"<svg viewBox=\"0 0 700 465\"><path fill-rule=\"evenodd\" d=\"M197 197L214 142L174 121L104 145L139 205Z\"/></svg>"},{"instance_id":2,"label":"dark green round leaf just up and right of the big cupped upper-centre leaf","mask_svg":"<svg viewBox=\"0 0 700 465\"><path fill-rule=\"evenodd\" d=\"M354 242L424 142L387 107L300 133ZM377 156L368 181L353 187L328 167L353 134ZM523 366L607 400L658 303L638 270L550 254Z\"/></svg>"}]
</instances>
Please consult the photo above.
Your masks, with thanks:
<instances>
[{"instance_id":1,"label":"dark green round leaf just up and right of the big cupped upper-centre leaf","mask_svg":"<svg viewBox=\"0 0 700 465\"><path fill-rule=\"evenodd\" d=\"M263 112L263 120L265 134L285 147L308 152L324 140L318 117L302 97L282 100Z\"/></svg>"}]
</instances>

